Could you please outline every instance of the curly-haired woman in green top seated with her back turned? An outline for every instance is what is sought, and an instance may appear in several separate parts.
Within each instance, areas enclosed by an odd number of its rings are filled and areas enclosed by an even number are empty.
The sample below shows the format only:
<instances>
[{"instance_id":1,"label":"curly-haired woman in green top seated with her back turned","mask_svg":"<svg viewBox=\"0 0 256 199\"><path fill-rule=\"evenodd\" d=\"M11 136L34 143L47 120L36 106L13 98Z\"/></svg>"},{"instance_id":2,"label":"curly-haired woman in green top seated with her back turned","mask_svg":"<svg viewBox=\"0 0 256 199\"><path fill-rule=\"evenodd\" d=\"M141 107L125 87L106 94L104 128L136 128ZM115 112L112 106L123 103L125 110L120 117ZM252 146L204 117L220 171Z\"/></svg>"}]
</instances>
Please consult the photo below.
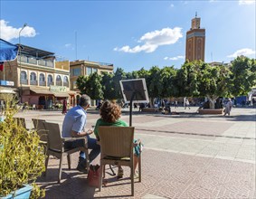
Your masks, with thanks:
<instances>
[{"instance_id":1,"label":"curly-haired woman in green top seated with her back turned","mask_svg":"<svg viewBox=\"0 0 256 199\"><path fill-rule=\"evenodd\" d=\"M94 134L98 140L99 137L99 127L100 126L115 126L115 127L128 127L128 124L121 120L121 109L118 104L105 101L100 108L100 117L95 125ZM138 156L140 155L140 140L134 140L134 174L137 167ZM119 166L118 178L122 178L124 175L124 171L121 166Z\"/></svg>"}]
</instances>

